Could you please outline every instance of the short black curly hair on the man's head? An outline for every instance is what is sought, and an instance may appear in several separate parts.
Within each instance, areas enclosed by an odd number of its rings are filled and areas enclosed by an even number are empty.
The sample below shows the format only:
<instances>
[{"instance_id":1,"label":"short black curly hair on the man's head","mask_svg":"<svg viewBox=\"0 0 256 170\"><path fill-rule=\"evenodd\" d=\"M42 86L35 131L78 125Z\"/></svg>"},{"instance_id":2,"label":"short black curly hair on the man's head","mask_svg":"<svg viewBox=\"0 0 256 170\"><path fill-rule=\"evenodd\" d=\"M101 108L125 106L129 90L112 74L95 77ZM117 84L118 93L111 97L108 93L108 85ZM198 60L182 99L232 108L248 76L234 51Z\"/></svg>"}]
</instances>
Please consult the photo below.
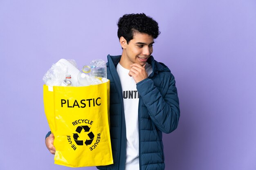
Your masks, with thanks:
<instances>
[{"instance_id":1,"label":"short black curly hair on the man's head","mask_svg":"<svg viewBox=\"0 0 256 170\"><path fill-rule=\"evenodd\" d=\"M121 37L124 37L127 44L133 39L133 35L136 32L146 33L151 35L154 39L160 34L158 23L144 13L125 14L119 18L117 26L117 36L119 40Z\"/></svg>"}]
</instances>

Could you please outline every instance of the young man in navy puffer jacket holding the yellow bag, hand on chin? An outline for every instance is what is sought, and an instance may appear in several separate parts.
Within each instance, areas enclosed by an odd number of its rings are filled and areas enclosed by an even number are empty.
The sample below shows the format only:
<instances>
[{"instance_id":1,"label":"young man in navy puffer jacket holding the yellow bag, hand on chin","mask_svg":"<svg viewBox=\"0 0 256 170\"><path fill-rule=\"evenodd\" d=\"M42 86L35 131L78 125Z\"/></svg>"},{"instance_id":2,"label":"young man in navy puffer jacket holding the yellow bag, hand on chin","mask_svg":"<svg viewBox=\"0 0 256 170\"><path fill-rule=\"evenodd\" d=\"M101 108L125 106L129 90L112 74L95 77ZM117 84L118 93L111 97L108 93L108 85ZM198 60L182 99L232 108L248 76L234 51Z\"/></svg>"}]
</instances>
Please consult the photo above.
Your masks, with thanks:
<instances>
[{"instance_id":1,"label":"young man in navy puffer jacket holding the yellow bag, hand on chin","mask_svg":"<svg viewBox=\"0 0 256 170\"><path fill-rule=\"evenodd\" d=\"M158 24L142 13L124 15L117 25L123 52L108 55L107 63L114 164L97 168L164 170L162 132L177 128L180 108L171 71L151 56ZM52 154L53 140L52 134L45 140Z\"/></svg>"}]
</instances>

